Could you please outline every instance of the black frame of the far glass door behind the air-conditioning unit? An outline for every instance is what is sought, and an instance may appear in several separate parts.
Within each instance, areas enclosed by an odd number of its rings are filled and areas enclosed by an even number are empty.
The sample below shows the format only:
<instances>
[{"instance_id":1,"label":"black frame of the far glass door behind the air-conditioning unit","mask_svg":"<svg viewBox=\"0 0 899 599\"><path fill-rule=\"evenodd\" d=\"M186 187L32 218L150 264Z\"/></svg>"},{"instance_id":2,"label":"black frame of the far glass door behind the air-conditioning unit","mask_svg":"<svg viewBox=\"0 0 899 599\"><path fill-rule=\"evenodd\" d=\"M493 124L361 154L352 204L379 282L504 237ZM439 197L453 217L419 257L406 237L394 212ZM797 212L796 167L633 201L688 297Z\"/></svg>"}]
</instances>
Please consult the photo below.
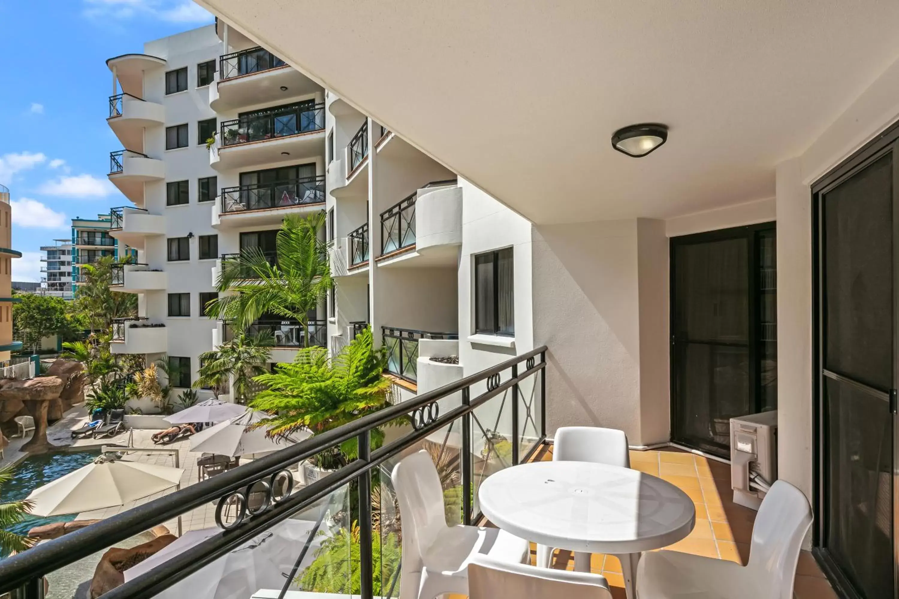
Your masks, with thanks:
<instances>
[{"instance_id":1,"label":"black frame of the far glass door behind the air-conditioning unit","mask_svg":"<svg viewBox=\"0 0 899 599\"><path fill-rule=\"evenodd\" d=\"M668 305L669 305L669 332L671 335L670 343L669 343L669 393L671 397L670 403L670 436L672 442L677 443L679 445L685 445L688 447L693 447L695 449L699 449L700 451L705 451L710 454L721 454L721 448L716 445L708 445L704 443L697 443L695 441L688 442L683 439L676 439L674 436L674 427L676 417L677 417L677 351L675 334L677 332L677 327L675 326L677 320L677 313L675 310L675 305L677 301L677 294L675 289L676 282L676 272L677 268L675 265L674 258L674 248L681 245L692 245L695 243L704 243L704 242L716 242L723 241L728 239L737 239L740 237L745 237L748 241L748 245L746 248L747 256L749 258L749 267L748 273L749 277L749 286L747 287L747 293L750 296L749 302L749 310L748 310L748 318L749 318L749 326L747 330L749 331L749 339L747 339L747 347L749 351L749 393L751 401L759 401L759 383L760 383L760 374L759 374L759 339L761 339L761 322L759 322L759 289L758 289L758 278L755 276L759 270L759 255L758 255L758 247L756 245L756 233L760 231L774 231L775 238L777 232L777 222L776 221L766 221L764 223L757 223L754 225L742 225L742 226L734 226L728 227L725 229L715 229L712 231L704 231L702 233L690 233L688 235L678 235L674 236L669 240L669 251L668 251L668 260L669 260L669 284L668 284ZM728 459L729 455L725 456Z\"/></svg>"}]
</instances>

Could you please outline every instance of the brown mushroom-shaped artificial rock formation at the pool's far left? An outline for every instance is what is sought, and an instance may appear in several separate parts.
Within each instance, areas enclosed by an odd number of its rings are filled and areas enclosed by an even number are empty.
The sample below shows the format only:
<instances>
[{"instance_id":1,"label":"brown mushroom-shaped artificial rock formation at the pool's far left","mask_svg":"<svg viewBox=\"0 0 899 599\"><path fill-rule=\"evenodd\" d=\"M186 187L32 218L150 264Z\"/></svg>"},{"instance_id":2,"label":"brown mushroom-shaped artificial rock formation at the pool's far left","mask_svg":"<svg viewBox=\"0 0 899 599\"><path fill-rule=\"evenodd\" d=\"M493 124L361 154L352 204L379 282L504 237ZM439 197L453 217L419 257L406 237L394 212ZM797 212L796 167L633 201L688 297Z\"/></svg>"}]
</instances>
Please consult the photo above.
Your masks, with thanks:
<instances>
[{"instance_id":1,"label":"brown mushroom-shaped artificial rock formation at the pool's far left","mask_svg":"<svg viewBox=\"0 0 899 599\"><path fill-rule=\"evenodd\" d=\"M0 380L0 402L8 409L0 410L0 414L11 413L14 407L22 405L31 418L34 418L34 434L28 443L22 445L23 452L41 454L53 449L47 439L47 425L50 416L56 419L72 407L72 401L81 398L84 387L84 366L80 362L59 359L49 367L47 374L36 376L25 381L13 379ZM10 418L19 415L14 413ZM0 420L2 422L2 420Z\"/></svg>"}]
</instances>

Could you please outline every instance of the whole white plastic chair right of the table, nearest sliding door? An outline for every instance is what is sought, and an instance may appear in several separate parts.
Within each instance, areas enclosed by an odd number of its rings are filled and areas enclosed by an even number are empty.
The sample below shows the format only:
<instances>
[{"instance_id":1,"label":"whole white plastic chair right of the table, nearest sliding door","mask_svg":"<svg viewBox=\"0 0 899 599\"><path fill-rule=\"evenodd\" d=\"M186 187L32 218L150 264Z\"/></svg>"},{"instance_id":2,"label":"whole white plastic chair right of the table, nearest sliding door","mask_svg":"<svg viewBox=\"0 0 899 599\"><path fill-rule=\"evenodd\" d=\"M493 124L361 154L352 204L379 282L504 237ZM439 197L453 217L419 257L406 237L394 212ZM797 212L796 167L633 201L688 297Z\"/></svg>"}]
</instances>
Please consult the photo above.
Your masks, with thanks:
<instances>
[{"instance_id":1,"label":"whole white plastic chair right of the table, nearest sliding door","mask_svg":"<svg viewBox=\"0 0 899 599\"><path fill-rule=\"evenodd\" d=\"M811 524L812 508L806 496L778 480L755 518L746 566L679 551L650 551L636 569L637 595L640 599L792 599L799 550Z\"/></svg>"}]
</instances>

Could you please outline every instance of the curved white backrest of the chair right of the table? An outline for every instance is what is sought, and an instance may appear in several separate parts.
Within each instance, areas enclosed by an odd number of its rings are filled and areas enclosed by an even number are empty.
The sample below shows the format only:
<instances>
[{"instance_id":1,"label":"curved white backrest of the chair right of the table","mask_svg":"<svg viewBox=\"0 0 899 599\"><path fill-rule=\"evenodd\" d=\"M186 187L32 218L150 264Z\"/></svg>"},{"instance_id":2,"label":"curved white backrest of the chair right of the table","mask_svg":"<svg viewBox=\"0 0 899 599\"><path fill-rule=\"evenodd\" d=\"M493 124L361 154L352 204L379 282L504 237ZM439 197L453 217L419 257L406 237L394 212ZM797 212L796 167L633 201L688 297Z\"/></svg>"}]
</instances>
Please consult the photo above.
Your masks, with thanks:
<instances>
[{"instance_id":1,"label":"curved white backrest of the chair right of the table","mask_svg":"<svg viewBox=\"0 0 899 599\"><path fill-rule=\"evenodd\" d=\"M783 480L771 485L752 527L749 564L760 596L791 599L802 541L812 525L812 508L802 491Z\"/></svg>"}]
</instances>

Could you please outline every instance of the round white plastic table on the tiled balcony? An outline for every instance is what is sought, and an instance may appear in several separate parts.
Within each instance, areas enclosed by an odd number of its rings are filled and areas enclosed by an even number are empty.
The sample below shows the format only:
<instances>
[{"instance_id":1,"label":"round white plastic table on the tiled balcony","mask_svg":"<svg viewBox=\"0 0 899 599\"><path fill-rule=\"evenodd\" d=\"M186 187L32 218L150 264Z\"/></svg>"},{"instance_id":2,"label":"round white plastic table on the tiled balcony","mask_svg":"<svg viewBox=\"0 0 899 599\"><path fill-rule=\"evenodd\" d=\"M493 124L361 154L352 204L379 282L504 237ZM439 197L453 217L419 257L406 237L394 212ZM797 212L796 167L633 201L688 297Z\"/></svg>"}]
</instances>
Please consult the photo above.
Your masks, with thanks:
<instances>
[{"instance_id":1,"label":"round white plastic table on the tiled balcony","mask_svg":"<svg viewBox=\"0 0 899 599\"><path fill-rule=\"evenodd\" d=\"M619 556L631 598L640 551L681 541L696 523L693 501L672 483L593 462L506 468L481 483L477 498L490 522L522 539Z\"/></svg>"}]
</instances>

